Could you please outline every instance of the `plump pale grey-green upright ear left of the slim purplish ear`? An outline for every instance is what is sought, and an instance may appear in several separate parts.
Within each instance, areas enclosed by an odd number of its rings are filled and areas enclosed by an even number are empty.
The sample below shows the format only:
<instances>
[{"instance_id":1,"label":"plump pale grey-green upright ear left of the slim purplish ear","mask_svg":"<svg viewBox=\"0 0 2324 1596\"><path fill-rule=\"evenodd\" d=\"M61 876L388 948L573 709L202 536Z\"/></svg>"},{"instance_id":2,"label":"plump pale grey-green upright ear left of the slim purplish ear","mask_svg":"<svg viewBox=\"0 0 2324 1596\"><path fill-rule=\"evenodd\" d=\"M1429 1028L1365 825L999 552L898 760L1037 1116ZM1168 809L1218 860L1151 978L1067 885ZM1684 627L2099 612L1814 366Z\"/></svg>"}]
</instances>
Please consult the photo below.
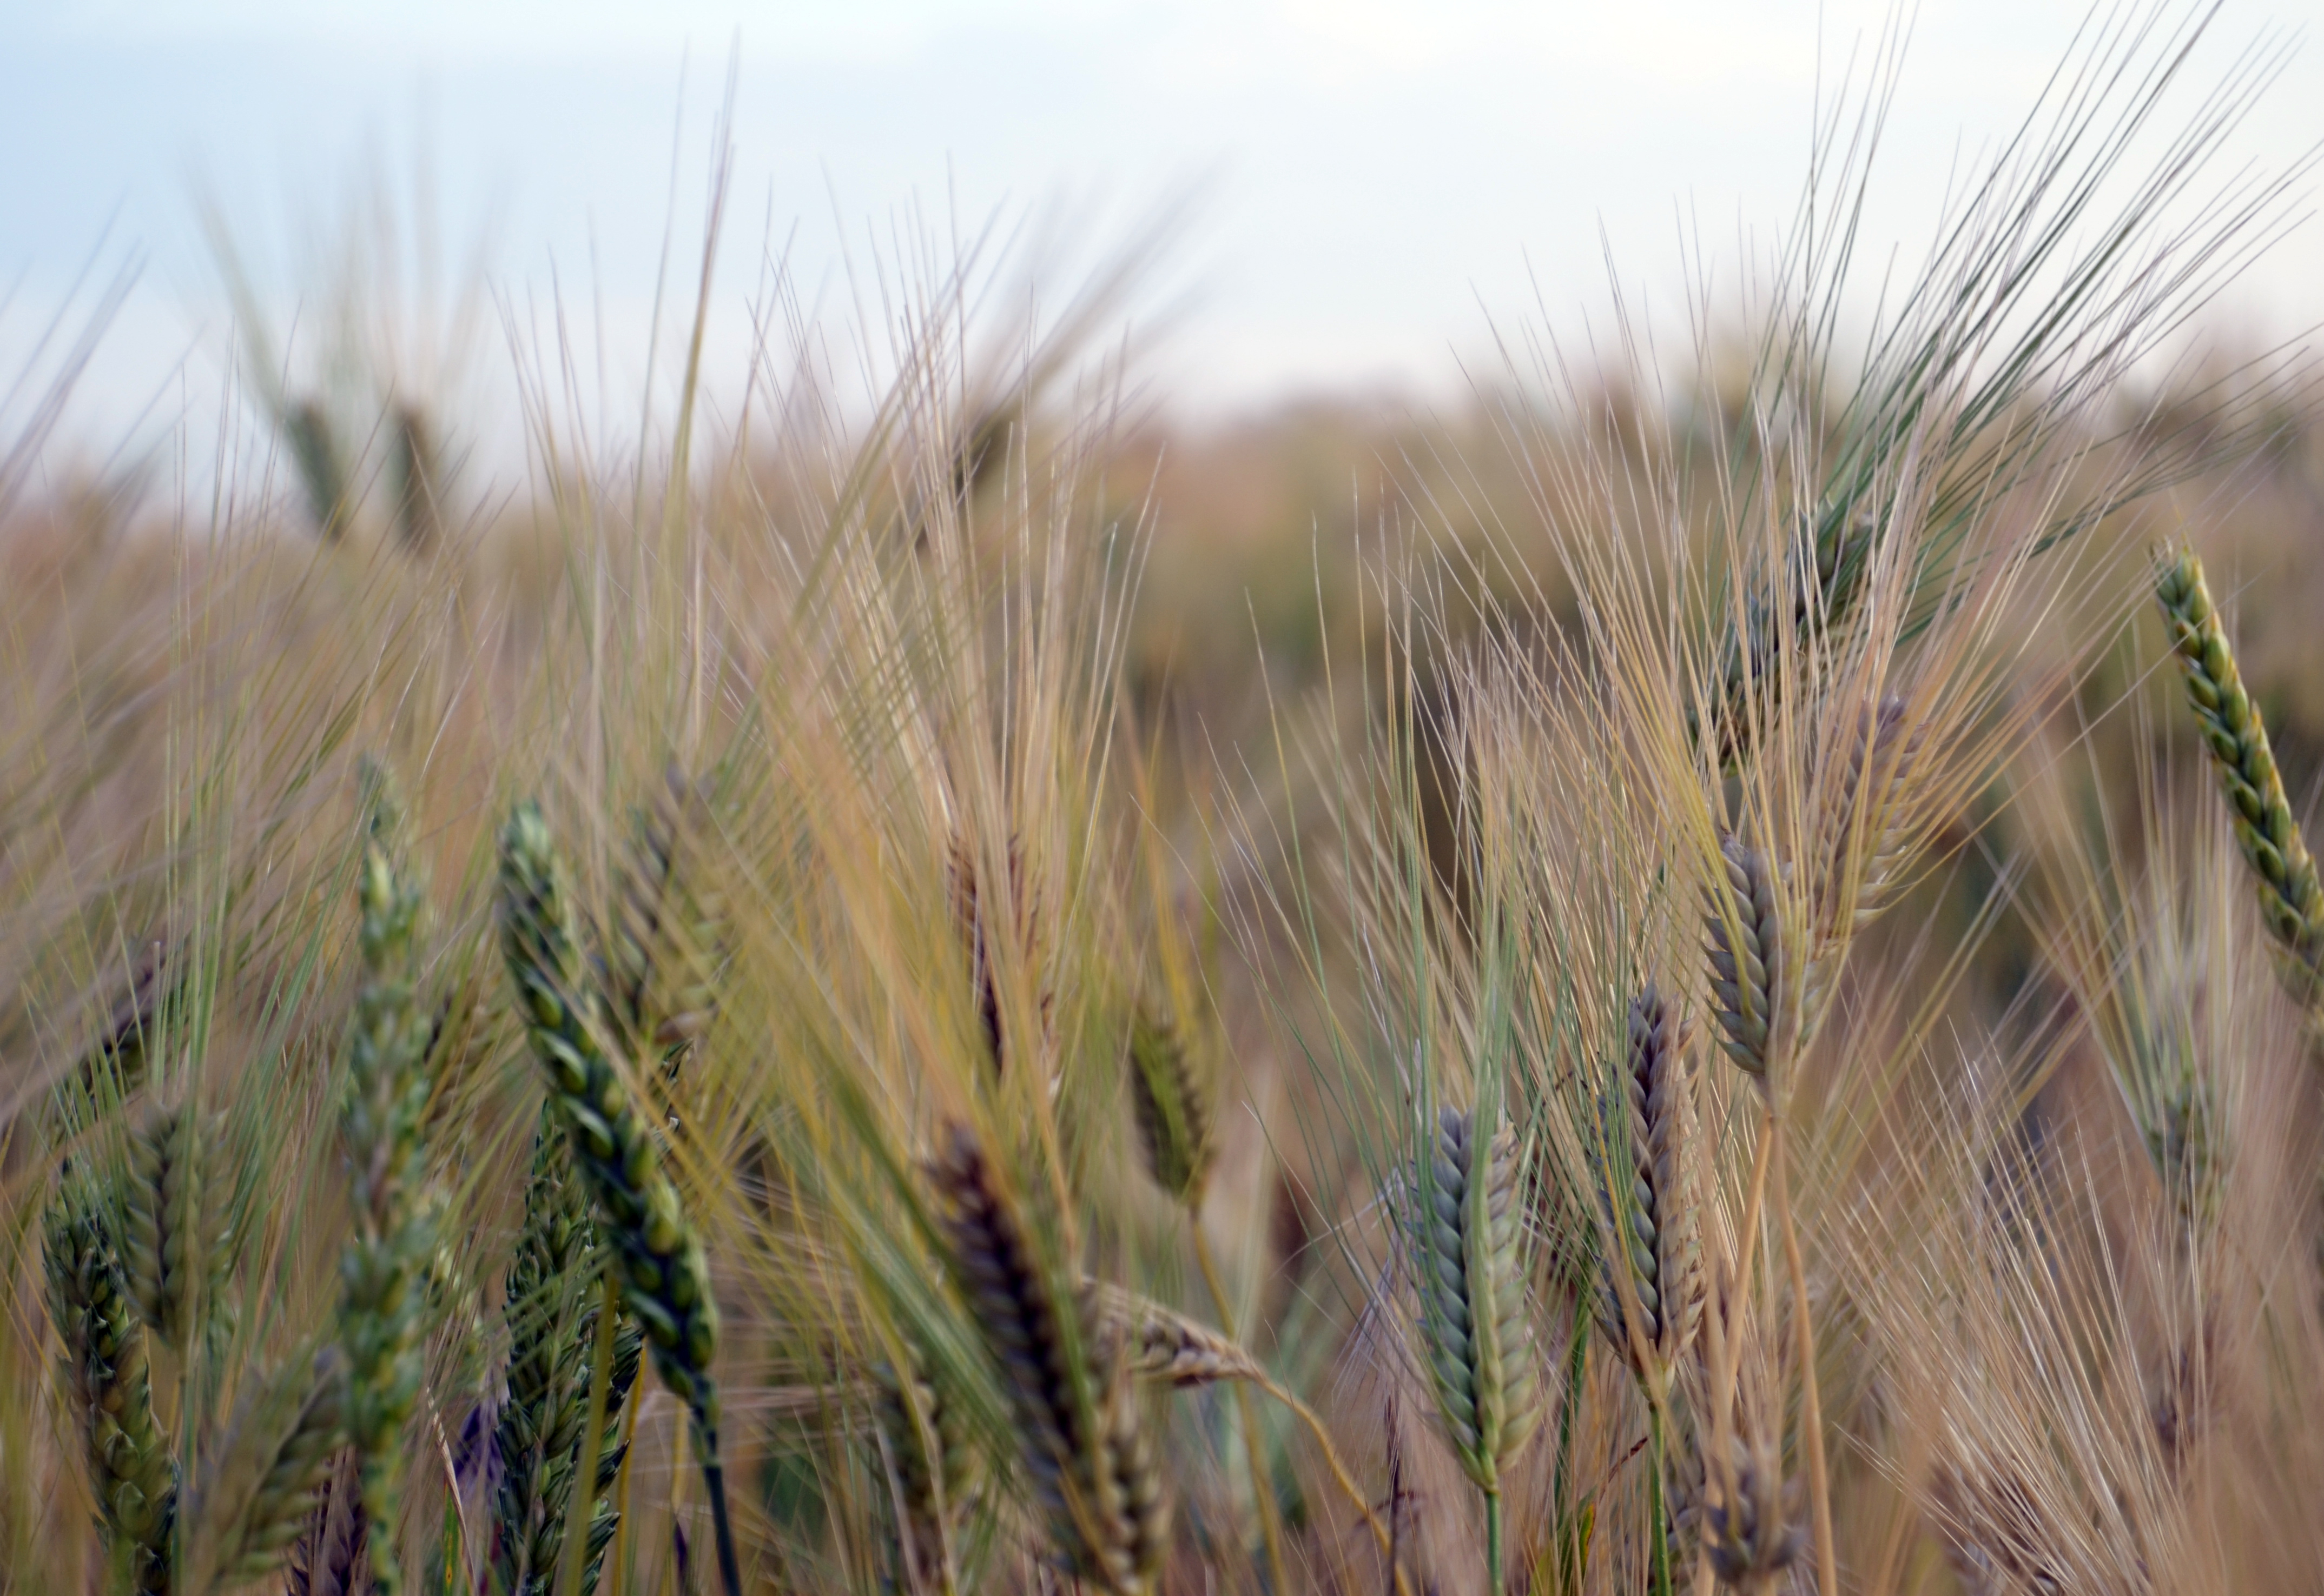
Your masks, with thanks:
<instances>
[{"instance_id":1,"label":"plump pale grey-green upright ear left of the slim purplish ear","mask_svg":"<svg viewBox=\"0 0 2324 1596\"><path fill-rule=\"evenodd\" d=\"M1404 1224L1436 1417L1492 1505L1504 1466L1541 1419L1520 1185L1515 1131L1476 1136L1469 1115L1446 1108L1415 1159Z\"/></svg>"}]
</instances>

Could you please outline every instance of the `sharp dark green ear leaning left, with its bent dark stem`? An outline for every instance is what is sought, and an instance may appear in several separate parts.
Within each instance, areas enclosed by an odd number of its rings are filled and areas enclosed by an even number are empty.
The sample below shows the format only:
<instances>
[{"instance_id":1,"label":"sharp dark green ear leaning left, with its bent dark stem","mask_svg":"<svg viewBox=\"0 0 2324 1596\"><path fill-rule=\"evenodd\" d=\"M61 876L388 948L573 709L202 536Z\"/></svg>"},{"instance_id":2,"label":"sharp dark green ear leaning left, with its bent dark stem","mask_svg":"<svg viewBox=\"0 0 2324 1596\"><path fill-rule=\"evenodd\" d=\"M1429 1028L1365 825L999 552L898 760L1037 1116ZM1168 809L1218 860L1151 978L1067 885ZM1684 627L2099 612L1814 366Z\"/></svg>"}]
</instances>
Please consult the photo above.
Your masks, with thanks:
<instances>
[{"instance_id":1,"label":"sharp dark green ear leaning left, with its bent dark stem","mask_svg":"<svg viewBox=\"0 0 2324 1596\"><path fill-rule=\"evenodd\" d=\"M725 1515L718 1461L718 1303L709 1261L662 1173L653 1129L607 1057L595 990L581 955L572 887L541 808L523 801L500 834L500 929L532 1055L572 1141L597 1213L597 1234L621 1257L623 1306L653 1347L653 1368L693 1415L695 1452L718 1531L718 1573L737 1596L741 1570Z\"/></svg>"}]
</instances>

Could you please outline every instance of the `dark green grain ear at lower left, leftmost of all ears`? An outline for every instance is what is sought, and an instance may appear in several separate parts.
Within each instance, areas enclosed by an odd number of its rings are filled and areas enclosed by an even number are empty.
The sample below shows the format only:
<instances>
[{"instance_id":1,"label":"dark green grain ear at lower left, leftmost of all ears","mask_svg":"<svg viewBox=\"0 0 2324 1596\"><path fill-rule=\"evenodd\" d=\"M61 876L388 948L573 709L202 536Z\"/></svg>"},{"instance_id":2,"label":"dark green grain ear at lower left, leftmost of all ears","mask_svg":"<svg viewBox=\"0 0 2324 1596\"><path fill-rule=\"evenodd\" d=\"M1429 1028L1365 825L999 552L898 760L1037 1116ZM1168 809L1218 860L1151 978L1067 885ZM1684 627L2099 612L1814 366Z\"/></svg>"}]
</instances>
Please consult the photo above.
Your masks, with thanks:
<instances>
[{"instance_id":1,"label":"dark green grain ear at lower left, leftmost of all ears","mask_svg":"<svg viewBox=\"0 0 2324 1596\"><path fill-rule=\"evenodd\" d=\"M95 1203L72 1171L42 1236L49 1324L65 1345L65 1406L81 1431L98 1526L132 1591L170 1591L177 1471L153 1424L144 1324Z\"/></svg>"}]
</instances>

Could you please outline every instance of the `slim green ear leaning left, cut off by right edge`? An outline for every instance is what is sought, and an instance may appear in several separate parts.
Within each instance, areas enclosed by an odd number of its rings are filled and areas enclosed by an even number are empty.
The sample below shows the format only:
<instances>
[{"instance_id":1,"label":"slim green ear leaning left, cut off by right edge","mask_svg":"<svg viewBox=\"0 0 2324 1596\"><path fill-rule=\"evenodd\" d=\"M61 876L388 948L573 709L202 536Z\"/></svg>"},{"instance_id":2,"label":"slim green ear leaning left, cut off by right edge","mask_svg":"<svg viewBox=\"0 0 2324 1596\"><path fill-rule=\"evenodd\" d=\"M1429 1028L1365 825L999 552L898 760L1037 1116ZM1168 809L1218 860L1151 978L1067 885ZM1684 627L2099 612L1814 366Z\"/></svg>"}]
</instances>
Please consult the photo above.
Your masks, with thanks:
<instances>
[{"instance_id":1,"label":"slim green ear leaning left, cut off by right edge","mask_svg":"<svg viewBox=\"0 0 2324 1596\"><path fill-rule=\"evenodd\" d=\"M2194 551L2180 551L2154 576L2154 599L2164 611L2164 630L2187 676L2187 702L2210 746L2212 769L2226 792L2236 841L2257 876L2261 918L2268 932L2291 955L2291 983L2303 1004L2317 997L2317 971L2324 969L2324 887L2301 839L2284 778L2268 748L2268 727L2259 706L2243 688L2236 653L2226 644L2219 611L2203 583L2203 562Z\"/></svg>"}]
</instances>

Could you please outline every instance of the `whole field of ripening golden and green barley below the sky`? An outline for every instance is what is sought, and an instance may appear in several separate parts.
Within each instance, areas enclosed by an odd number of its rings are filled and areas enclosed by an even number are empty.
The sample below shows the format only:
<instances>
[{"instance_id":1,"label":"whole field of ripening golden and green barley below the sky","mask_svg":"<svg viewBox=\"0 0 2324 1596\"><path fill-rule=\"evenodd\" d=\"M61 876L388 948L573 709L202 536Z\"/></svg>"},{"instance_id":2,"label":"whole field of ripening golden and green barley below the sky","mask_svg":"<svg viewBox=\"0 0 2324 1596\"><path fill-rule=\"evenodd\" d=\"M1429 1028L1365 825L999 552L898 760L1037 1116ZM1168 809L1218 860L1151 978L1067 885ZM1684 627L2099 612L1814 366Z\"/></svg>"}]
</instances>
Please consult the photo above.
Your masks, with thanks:
<instances>
[{"instance_id":1,"label":"whole field of ripening golden and green barley below the sky","mask_svg":"<svg viewBox=\"0 0 2324 1596\"><path fill-rule=\"evenodd\" d=\"M35 407L0 1591L2324 1591L2210 26L1903 260L1875 81L1697 325L1427 418L1171 427L964 260L713 423L723 188L676 425L511 342L516 493L360 362L200 497Z\"/></svg>"}]
</instances>

